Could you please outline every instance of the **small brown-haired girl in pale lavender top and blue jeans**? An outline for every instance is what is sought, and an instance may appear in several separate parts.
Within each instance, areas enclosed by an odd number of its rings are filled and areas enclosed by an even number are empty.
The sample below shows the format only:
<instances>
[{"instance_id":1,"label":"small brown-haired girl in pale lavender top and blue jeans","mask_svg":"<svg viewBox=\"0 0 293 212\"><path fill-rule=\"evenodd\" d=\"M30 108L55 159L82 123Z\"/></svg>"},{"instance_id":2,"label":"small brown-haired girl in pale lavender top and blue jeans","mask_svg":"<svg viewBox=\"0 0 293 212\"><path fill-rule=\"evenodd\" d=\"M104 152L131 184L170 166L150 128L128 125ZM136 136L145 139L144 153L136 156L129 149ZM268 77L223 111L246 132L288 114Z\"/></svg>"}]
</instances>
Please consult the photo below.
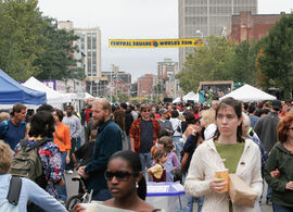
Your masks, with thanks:
<instances>
[{"instance_id":1,"label":"small brown-haired girl in pale lavender top and blue jeans","mask_svg":"<svg viewBox=\"0 0 293 212\"><path fill-rule=\"evenodd\" d=\"M166 169L166 182L174 182L174 173L179 167L176 153L173 151L173 139L168 136L163 136L158 140L158 149L162 149L167 154L167 161L164 163Z\"/></svg>"}]
</instances>

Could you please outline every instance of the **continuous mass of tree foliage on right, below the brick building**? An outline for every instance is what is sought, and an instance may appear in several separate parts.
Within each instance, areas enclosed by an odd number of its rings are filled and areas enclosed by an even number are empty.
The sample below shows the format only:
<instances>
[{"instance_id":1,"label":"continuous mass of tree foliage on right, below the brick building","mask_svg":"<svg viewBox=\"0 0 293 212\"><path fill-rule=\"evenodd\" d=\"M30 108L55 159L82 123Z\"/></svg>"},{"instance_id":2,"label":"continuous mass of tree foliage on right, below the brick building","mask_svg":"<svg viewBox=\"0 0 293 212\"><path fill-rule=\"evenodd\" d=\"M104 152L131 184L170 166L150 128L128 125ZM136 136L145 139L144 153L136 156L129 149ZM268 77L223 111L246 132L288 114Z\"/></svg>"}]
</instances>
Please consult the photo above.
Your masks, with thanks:
<instances>
[{"instance_id":1,"label":"continuous mass of tree foliage on right, below the brick building","mask_svg":"<svg viewBox=\"0 0 293 212\"><path fill-rule=\"evenodd\" d=\"M187 92L200 82L233 80L263 89L279 87L284 99L293 87L293 14L283 15L263 39L235 45L222 37L209 37L207 45L187 57L176 76Z\"/></svg>"}]
</instances>

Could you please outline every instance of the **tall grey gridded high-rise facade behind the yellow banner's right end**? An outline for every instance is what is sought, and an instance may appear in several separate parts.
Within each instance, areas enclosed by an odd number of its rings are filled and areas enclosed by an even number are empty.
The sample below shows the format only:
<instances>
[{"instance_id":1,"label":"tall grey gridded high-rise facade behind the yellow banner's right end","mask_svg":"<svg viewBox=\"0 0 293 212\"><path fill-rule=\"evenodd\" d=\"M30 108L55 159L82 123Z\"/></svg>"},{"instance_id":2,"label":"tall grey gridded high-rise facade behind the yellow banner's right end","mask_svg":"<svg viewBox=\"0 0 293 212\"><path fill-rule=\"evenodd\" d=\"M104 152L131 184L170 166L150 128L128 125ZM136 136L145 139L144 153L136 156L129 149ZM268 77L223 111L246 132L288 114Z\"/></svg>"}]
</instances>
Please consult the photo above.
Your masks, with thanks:
<instances>
[{"instance_id":1,"label":"tall grey gridded high-rise facade behind the yellow banner's right end","mask_svg":"<svg viewBox=\"0 0 293 212\"><path fill-rule=\"evenodd\" d=\"M220 36L240 11L257 13L257 0L178 0L179 38ZM179 70L193 48L179 49Z\"/></svg>"}]
</instances>

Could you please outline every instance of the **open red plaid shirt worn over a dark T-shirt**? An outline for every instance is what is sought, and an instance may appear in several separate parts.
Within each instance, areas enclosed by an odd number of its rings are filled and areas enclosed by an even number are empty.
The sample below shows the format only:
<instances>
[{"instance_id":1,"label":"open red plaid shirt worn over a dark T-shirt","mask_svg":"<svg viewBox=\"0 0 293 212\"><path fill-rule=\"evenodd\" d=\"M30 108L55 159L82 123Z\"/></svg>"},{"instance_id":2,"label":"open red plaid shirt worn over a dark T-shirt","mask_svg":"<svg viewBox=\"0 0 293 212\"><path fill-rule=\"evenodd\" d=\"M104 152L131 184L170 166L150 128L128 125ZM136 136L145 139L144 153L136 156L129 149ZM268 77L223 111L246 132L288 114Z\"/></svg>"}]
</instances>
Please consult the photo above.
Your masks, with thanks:
<instances>
[{"instance_id":1,"label":"open red plaid shirt worn over a dark T-shirt","mask_svg":"<svg viewBox=\"0 0 293 212\"><path fill-rule=\"evenodd\" d=\"M153 146L157 140L157 133L161 130L161 125L157 120L150 117L153 124ZM141 117L133 121L130 130L129 137L135 139L135 150L137 153L140 153L140 133L141 133Z\"/></svg>"}]
</instances>

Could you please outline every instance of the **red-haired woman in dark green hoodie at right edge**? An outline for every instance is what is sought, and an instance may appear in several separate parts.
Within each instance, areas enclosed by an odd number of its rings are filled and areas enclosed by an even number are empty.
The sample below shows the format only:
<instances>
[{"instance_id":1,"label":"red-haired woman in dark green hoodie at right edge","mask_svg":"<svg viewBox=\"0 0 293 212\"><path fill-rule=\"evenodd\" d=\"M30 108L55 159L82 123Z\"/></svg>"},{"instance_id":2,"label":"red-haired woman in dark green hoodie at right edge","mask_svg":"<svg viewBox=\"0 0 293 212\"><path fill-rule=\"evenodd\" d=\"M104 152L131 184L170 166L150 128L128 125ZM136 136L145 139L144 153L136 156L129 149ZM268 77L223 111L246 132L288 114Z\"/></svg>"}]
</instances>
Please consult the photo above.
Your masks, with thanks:
<instances>
[{"instance_id":1,"label":"red-haired woman in dark green hoodie at right edge","mask_svg":"<svg viewBox=\"0 0 293 212\"><path fill-rule=\"evenodd\" d=\"M272 189L273 212L293 211L293 113L279 122L278 140L269 154L265 179Z\"/></svg>"}]
</instances>

